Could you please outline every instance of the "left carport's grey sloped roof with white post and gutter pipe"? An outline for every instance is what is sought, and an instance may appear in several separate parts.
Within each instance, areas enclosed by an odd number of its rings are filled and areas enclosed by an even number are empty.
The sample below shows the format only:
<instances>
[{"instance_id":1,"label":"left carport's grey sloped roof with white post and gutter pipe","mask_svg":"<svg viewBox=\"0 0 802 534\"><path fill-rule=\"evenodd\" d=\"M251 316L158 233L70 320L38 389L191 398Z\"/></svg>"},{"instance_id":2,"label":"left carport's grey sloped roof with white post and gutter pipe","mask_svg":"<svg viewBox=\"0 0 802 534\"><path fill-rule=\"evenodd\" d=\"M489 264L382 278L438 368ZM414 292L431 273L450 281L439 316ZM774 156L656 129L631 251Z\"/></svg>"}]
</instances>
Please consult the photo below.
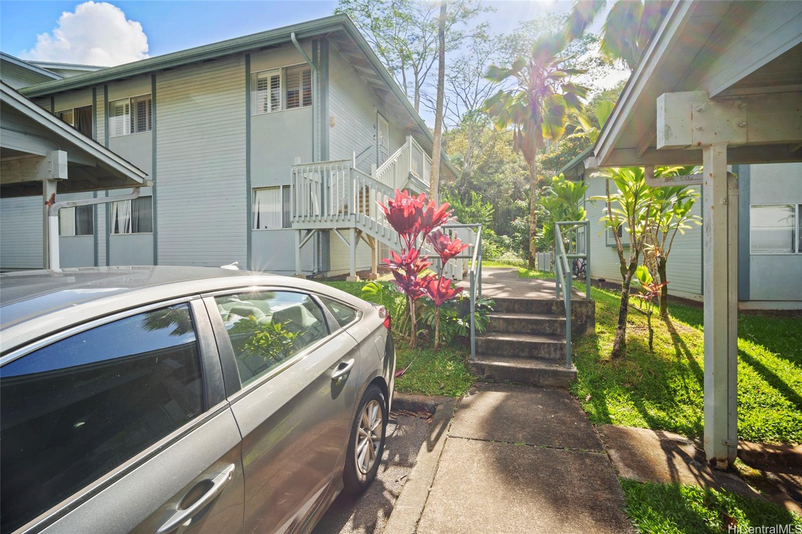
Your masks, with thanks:
<instances>
[{"instance_id":1,"label":"left carport's grey sloped roof with white post and gutter pipe","mask_svg":"<svg viewBox=\"0 0 802 534\"><path fill-rule=\"evenodd\" d=\"M0 82L0 196L43 198L43 267L59 267L59 209L139 195L147 174ZM133 188L129 196L56 203L56 193ZM2 231L2 230L0 230ZM97 231L95 229L95 236Z\"/></svg>"}]
</instances>

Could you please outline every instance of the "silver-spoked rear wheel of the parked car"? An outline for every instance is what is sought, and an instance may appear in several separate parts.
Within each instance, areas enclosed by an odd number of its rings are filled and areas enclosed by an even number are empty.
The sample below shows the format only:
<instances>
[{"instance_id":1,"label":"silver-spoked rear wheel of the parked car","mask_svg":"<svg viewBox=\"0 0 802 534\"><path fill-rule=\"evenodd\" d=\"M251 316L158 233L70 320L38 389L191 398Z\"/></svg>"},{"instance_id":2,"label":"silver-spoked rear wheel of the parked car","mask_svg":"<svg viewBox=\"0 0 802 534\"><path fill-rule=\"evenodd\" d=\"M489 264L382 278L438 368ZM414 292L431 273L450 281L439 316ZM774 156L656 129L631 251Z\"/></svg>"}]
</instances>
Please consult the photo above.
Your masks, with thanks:
<instances>
[{"instance_id":1,"label":"silver-spoked rear wheel of the parked car","mask_svg":"<svg viewBox=\"0 0 802 534\"><path fill-rule=\"evenodd\" d=\"M358 495L376 478L387 431L387 403L379 386L367 388L351 426L346 467L342 473L345 491Z\"/></svg>"}]
</instances>

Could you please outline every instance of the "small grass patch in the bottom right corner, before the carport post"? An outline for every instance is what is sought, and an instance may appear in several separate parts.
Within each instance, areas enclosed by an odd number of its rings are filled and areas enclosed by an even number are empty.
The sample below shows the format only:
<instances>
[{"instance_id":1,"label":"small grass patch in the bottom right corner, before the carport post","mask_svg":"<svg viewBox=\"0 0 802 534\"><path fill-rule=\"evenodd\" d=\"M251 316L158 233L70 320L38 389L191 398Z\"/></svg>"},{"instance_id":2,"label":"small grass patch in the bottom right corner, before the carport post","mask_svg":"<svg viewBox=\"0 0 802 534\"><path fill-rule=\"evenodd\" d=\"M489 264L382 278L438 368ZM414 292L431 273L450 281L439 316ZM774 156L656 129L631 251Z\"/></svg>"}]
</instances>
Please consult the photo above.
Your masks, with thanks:
<instances>
[{"instance_id":1,"label":"small grass patch in the bottom right corner, before the carport post","mask_svg":"<svg viewBox=\"0 0 802 534\"><path fill-rule=\"evenodd\" d=\"M730 525L739 527L739 532L748 532L749 527L793 525L788 532L796 532L802 527L802 518L785 508L726 490L628 479L620 482L626 495L624 512L639 532L718 534L728 532Z\"/></svg>"}]
</instances>

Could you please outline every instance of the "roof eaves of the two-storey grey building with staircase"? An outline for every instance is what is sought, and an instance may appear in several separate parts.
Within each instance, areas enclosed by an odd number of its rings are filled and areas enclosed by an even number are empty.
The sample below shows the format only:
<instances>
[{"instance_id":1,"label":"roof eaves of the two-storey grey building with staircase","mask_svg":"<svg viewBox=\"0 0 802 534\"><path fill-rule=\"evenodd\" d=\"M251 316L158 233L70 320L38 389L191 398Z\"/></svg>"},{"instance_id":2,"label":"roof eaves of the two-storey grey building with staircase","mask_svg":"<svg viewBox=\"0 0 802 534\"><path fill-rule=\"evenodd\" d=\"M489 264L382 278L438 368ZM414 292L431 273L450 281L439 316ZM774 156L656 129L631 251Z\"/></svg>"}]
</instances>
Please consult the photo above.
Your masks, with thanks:
<instances>
[{"instance_id":1,"label":"roof eaves of the two-storey grey building with staircase","mask_svg":"<svg viewBox=\"0 0 802 534\"><path fill-rule=\"evenodd\" d=\"M352 63L354 69L357 70L358 74L361 75L363 79L366 79L367 83L371 85L374 90L379 87L383 87L386 90L387 94L383 95L385 101L387 102L387 96L389 96L395 108L408 115L411 122L415 124L415 132L422 137L424 141L421 143L423 148L427 148L427 150L431 152L431 145L434 138L429 127L427 127L418 112L415 111L415 108L412 107L412 104L409 102L406 95L404 95L401 87L399 87L398 83L395 83L395 79L393 79L392 75L387 71L387 68L384 67L379 56L375 54L363 37L363 34L346 14L334 14L329 17L316 18L307 22L282 26L256 34L213 42L208 45L202 45L201 47L188 48L184 51L141 59L140 61L125 63L124 65L118 65L116 67L107 67L99 71L87 72L85 74L46 83L38 83L37 85L26 87L21 92L22 95L26 95L29 98L51 95L61 91L70 91L72 89L98 85L99 83L108 83L114 80L131 78L132 76L181 67L190 63L217 59L225 55L240 54L267 47L277 47L290 43L290 36L292 34L295 34L298 40L331 36L335 46L341 51L346 51L349 58L353 57L351 53L358 52L362 59ZM441 153L443 156L441 161L446 168L448 168L448 171L456 176L456 169L452 166L450 160L448 160L448 156L446 156L444 152Z\"/></svg>"}]
</instances>

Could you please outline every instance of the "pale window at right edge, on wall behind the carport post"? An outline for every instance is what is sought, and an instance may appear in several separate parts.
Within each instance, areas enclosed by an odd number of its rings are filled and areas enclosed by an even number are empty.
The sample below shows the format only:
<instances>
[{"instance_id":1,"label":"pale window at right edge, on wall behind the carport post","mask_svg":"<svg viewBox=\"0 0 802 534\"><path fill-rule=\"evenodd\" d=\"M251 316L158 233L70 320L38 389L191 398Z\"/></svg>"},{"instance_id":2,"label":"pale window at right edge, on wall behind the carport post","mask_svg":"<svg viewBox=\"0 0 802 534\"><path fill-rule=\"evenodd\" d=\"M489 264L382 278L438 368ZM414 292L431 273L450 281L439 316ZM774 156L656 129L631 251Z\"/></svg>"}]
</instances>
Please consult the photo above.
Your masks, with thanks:
<instances>
[{"instance_id":1,"label":"pale window at right edge, on wall behind the carport post","mask_svg":"<svg viewBox=\"0 0 802 534\"><path fill-rule=\"evenodd\" d=\"M796 252L796 204L751 206L749 225L752 254Z\"/></svg>"}]
</instances>

